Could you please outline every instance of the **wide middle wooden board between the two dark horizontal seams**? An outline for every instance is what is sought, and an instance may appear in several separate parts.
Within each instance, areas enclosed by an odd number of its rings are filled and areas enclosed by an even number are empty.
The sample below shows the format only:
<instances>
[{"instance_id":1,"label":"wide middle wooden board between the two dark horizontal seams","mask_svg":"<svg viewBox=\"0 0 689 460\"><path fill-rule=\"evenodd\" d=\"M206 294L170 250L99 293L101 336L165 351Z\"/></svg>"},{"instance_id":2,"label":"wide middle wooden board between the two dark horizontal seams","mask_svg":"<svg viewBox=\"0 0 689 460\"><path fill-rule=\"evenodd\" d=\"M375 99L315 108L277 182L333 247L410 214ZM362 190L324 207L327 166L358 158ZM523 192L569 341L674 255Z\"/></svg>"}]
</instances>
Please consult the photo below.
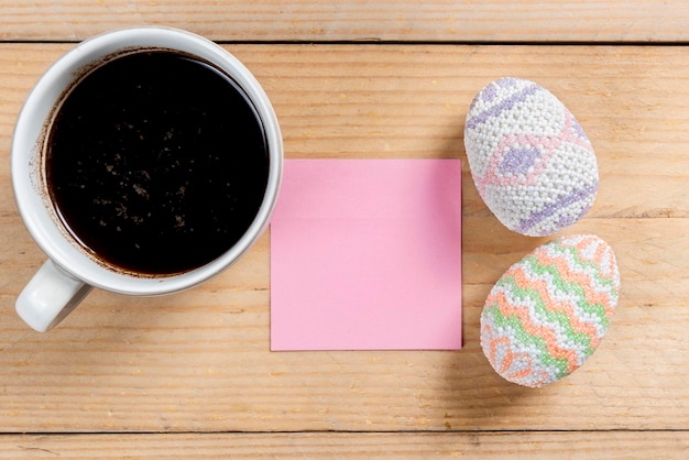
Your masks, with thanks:
<instances>
[{"instance_id":1,"label":"wide middle wooden board between the two dark horizontal seams","mask_svg":"<svg viewBox=\"0 0 689 460\"><path fill-rule=\"evenodd\" d=\"M460 352L269 352L270 233L203 287L150 299L97 292L54 331L30 331L13 303L43 255L14 209L8 152L21 101L69 47L0 45L3 431L689 427L685 47L228 46L272 98L288 157L460 157L466 165L463 117L483 85L517 75L565 101L592 139L602 178L594 208L568 231L613 245L623 291L601 349L570 377L535 391L494 374L478 324L492 283L545 239L504 230L468 172ZM620 445L627 441L634 436Z\"/></svg>"}]
</instances>

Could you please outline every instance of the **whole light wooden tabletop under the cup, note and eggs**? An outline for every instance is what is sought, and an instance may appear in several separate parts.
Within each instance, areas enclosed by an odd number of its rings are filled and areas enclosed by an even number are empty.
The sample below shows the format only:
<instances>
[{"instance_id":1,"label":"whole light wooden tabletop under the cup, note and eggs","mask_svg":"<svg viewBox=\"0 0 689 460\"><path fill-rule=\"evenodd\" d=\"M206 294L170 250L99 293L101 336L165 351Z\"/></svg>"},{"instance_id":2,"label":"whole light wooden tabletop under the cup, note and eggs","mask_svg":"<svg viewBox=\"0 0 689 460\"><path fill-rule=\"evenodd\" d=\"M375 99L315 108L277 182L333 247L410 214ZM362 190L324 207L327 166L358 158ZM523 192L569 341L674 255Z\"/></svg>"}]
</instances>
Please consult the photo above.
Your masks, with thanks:
<instances>
[{"instance_id":1,"label":"whole light wooden tabletop under the cup, note and eggs","mask_svg":"<svg viewBox=\"0 0 689 460\"><path fill-rule=\"evenodd\" d=\"M270 231L203 287L96 292L45 335L20 321L44 255L10 186L18 111L76 42L140 24L242 59L288 158L462 160L463 350L271 353ZM0 40L0 457L689 457L686 2L4 0ZM479 346L490 287L547 240L505 230L467 167L468 106L501 76L538 81L587 130L601 187L565 233L608 240L622 274L600 349L543 390Z\"/></svg>"}]
</instances>

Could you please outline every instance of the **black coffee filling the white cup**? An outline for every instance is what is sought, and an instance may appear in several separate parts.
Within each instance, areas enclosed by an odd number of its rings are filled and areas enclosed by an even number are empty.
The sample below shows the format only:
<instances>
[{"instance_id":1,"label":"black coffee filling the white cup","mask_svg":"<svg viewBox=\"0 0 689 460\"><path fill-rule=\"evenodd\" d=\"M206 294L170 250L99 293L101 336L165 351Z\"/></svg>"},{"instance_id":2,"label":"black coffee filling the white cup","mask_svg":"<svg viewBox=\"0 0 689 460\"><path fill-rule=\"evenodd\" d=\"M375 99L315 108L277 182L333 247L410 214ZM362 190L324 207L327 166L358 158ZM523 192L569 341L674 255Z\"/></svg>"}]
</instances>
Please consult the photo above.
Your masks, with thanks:
<instances>
[{"instance_id":1,"label":"black coffee filling the white cup","mask_svg":"<svg viewBox=\"0 0 689 460\"><path fill-rule=\"evenodd\" d=\"M74 237L144 274L186 272L231 248L265 193L261 120L219 69L168 51L108 61L67 95L46 182Z\"/></svg>"}]
</instances>

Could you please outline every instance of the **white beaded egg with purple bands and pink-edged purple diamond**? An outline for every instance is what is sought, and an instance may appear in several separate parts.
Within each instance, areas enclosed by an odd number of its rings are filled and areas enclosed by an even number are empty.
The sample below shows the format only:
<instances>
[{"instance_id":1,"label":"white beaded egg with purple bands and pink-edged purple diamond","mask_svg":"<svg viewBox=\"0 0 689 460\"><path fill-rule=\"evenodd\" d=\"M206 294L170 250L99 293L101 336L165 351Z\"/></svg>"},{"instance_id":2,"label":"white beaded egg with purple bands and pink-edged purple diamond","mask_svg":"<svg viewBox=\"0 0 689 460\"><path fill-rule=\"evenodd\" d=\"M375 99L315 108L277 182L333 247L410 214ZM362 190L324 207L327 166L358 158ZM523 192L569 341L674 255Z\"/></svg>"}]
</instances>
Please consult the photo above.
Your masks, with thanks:
<instances>
[{"instance_id":1,"label":"white beaded egg with purple bands and pink-edged purple diamond","mask_svg":"<svg viewBox=\"0 0 689 460\"><path fill-rule=\"evenodd\" d=\"M581 219L598 191L589 138L550 91L501 78L471 102L464 124L471 176L490 210L522 234L553 234Z\"/></svg>"}]
</instances>

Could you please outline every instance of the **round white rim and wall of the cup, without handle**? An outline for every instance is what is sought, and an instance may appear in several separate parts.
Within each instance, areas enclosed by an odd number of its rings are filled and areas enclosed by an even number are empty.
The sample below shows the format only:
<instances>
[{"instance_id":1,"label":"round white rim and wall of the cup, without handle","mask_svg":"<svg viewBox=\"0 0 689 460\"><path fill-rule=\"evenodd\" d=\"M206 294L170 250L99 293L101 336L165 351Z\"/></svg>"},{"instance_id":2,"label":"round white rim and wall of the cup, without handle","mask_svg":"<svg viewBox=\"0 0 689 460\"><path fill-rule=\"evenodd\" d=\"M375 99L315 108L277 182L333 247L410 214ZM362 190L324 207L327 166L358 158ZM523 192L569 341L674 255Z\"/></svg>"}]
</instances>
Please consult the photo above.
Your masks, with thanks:
<instances>
[{"instance_id":1,"label":"round white rim and wall of the cup, without handle","mask_svg":"<svg viewBox=\"0 0 689 460\"><path fill-rule=\"evenodd\" d=\"M244 234L216 260L173 275L133 274L111 266L81 248L56 217L47 199L42 174L41 143L50 123L52 107L67 85L92 66L119 51L131 47L166 48L197 55L225 70L244 90L253 103L266 138L269 179L263 200ZM46 101L47 99L47 101ZM47 107L50 106L50 108ZM41 122L35 122L40 119ZM26 97L18 117L11 146L11 174L20 215L39 247L62 270L101 289L129 295L161 295L198 285L237 262L259 239L269 224L282 182L284 152L282 134L270 99L253 74L220 45L188 31L165 26L119 29L95 35L59 57L41 76Z\"/></svg>"}]
</instances>

